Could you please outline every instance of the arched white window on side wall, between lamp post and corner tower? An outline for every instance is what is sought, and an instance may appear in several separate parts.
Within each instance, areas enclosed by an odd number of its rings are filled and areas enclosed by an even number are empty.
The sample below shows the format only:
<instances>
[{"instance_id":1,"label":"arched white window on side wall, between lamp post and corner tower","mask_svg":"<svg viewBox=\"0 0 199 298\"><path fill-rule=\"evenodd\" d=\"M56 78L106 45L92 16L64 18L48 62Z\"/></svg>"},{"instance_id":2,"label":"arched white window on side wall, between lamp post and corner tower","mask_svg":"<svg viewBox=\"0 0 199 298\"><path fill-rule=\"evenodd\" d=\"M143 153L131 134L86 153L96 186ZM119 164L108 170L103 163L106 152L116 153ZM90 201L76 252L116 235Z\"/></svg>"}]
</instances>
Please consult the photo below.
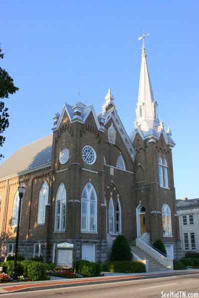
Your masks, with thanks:
<instances>
[{"instance_id":1,"label":"arched white window on side wall, between lamp post and corner tower","mask_svg":"<svg viewBox=\"0 0 199 298\"><path fill-rule=\"evenodd\" d=\"M48 204L49 185L46 181L42 184L38 201L38 216L37 223L45 223L46 205Z\"/></svg>"}]
</instances>

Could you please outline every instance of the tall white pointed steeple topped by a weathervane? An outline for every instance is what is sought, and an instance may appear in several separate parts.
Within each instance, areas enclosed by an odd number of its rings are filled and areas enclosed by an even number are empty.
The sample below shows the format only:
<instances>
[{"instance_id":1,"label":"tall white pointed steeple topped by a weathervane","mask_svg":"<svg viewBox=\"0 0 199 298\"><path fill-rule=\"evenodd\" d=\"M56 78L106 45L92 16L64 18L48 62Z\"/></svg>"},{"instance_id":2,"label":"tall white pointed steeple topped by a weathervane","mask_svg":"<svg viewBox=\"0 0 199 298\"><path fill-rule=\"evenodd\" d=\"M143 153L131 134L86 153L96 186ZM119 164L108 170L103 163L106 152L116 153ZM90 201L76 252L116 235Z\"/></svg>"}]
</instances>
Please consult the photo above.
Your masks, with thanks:
<instances>
[{"instance_id":1,"label":"tall white pointed steeple topped by a weathervane","mask_svg":"<svg viewBox=\"0 0 199 298\"><path fill-rule=\"evenodd\" d=\"M139 38L143 39L143 45L141 52L141 70L136 109L136 125L140 126L143 135L148 140L151 139L151 141L154 141L155 139L157 139L157 131L159 126L159 120L157 116L158 105L153 97L153 91L146 63L146 53L144 48L145 36L146 35L143 35Z\"/></svg>"}]
</instances>

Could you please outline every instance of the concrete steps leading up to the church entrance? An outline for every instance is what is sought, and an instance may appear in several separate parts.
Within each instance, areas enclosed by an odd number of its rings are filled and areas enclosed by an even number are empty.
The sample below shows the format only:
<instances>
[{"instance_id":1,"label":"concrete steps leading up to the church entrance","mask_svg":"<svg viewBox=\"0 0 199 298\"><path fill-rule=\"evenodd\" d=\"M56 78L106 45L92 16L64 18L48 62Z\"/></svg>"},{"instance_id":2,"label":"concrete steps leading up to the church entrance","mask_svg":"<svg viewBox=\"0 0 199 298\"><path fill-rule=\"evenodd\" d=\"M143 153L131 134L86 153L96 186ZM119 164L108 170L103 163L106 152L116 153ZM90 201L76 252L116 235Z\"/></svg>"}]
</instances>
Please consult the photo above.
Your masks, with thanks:
<instances>
[{"instance_id":1,"label":"concrete steps leading up to the church entrance","mask_svg":"<svg viewBox=\"0 0 199 298\"><path fill-rule=\"evenodd\" d=\"M148 271L159 271L159 270L166 270L166 268L160 264L158 261L156 261L154 258L152 258L148 253L143 251L141 248L137 246L131 246L132 252L137 254L142 259L148 260Z\"/></svg>"}]
</instances>

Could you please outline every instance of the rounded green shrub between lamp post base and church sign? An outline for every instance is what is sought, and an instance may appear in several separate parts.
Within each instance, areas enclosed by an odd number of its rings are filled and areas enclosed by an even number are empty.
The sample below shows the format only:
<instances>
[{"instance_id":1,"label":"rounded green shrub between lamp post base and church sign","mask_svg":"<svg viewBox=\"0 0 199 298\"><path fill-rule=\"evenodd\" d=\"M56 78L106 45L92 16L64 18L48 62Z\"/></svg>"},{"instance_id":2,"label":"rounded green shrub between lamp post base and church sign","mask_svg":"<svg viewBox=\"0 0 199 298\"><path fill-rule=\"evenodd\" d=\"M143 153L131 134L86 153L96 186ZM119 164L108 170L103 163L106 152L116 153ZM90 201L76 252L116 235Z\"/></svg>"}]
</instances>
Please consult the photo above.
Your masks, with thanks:
<instances>
[{"instance_id":1,"label":"rounded green shrub between lamp post base and church sign","mask_svg":"<svg viewBox=\"0 0 199 298\"><path fill-rule=\"evenodd\" d=\"M42 262L29 261L27 264L27 275L33 281L46 279L46 264Z\"/></svg>"}]
</instances>

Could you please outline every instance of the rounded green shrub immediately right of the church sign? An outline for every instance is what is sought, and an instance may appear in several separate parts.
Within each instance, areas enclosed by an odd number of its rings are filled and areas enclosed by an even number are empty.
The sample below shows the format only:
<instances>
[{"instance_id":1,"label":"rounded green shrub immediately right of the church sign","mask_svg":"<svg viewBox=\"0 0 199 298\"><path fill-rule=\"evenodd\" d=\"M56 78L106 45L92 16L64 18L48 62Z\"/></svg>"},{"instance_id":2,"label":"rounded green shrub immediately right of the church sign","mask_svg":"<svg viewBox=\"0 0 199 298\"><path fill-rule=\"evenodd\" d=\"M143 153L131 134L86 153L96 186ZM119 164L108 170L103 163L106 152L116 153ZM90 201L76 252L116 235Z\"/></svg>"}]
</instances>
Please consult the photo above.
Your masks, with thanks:
<instances>
[{"instance_id":1,"label":"rounded green shrub immediately right of the church sign","mask_svg":"<svg viewBox=\"0 0 199 298\"><path fill-rule=\"evenodd\" d=\"M87 260L78 260L76 262L76 272L86 277L99 276L101 266L99 263L89 262Z\"/></svg>"}]
</instances>

